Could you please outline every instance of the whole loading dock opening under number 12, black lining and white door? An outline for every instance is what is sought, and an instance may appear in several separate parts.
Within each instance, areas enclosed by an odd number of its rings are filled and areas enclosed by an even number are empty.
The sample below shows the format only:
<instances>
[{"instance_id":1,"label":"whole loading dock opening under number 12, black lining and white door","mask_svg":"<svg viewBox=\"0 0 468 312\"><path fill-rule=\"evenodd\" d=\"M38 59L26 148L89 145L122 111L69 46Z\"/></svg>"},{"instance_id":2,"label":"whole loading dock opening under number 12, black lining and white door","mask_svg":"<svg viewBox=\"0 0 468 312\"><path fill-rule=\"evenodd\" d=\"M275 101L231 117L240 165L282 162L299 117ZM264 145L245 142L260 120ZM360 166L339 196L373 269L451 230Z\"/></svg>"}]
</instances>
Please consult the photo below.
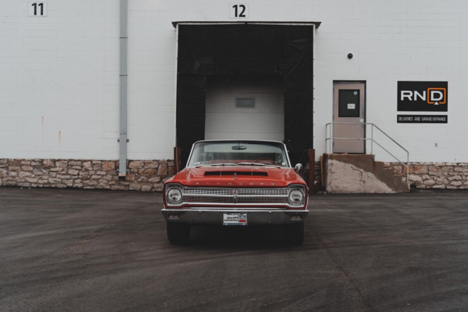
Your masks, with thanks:
<instances>
[{"instance_id":1,"label":"whole loading dock opening under number 12, black lining and white door","mask_svg":"<svg viewBox=\"0 0 468 312\"><path fill-rule=\"evenodd\" d=\"M307 162L315 24L175 23L181 167L196 141L254 136L284 141L292 163Z\"/></svg>"}]
</instances>

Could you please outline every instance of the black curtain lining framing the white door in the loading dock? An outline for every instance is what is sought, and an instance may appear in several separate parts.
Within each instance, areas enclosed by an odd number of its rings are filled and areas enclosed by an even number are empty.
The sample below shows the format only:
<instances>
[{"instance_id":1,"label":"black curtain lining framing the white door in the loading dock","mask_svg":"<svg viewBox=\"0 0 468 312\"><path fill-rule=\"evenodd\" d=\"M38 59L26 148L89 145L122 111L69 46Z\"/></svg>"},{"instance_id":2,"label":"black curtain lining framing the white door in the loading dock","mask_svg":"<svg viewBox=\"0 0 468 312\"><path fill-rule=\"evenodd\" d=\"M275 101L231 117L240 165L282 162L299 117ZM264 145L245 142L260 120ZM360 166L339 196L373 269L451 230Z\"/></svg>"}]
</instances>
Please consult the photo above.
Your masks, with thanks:
<instances>
[{"instance_id":1,"label":"black curtain lining framing the white door in the loading dock","mask_svg":"<svg viewBox=\"0 0 468 312\"><path fill-rule=\"evenodd\" d=\"M185 166L205 137L206 75L284 75L285 143L293 164L312 148L312 31L305 25L179 25L177 146ZM302 158L301 158L302 157Z\"/></svg>"}]
</instances>

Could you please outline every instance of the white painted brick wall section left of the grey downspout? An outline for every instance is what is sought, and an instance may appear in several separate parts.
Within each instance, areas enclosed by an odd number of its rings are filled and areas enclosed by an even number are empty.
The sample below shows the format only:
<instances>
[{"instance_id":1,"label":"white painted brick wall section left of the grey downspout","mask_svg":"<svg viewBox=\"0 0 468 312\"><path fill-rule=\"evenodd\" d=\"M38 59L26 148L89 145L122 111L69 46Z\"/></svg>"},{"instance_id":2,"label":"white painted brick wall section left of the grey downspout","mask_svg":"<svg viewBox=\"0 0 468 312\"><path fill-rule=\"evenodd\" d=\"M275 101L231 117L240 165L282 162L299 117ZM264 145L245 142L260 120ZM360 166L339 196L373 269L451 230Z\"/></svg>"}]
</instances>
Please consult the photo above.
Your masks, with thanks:
<instances>
[{"instance_id":1,"label":"white painted brick wall section left of the grey downspout","mask_svg":"<svg viewBox=\"0 0 468 312\"><path fill-rule=\"evenodd\" d=\"M118 1L94 2L1 2L1 158L118 157Z\"/></svg>"}]
</instances>

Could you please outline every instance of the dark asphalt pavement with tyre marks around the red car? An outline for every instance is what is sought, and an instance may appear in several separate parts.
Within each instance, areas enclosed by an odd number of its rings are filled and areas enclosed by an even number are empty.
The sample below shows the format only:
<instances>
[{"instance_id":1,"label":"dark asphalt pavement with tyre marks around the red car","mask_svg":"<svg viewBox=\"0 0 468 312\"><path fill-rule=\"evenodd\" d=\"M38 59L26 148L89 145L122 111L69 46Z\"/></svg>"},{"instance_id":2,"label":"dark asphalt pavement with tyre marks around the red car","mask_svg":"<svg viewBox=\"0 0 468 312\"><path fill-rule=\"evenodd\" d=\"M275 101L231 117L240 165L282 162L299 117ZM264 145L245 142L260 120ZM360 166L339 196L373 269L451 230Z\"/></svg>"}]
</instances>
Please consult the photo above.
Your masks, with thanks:
<instances>
[{"instance_id":1,"label":"dark asphalt pavement with tyre marks around the red car","mask_svg":"<svg viewBox=\"0 0 468 312\"><path fill-rule=\"evenodd\" d=\"M315 195L305 240L195 227L161 193L0 187L0 311L468 311L468 192Z\"/></svg>"}]
</instances>

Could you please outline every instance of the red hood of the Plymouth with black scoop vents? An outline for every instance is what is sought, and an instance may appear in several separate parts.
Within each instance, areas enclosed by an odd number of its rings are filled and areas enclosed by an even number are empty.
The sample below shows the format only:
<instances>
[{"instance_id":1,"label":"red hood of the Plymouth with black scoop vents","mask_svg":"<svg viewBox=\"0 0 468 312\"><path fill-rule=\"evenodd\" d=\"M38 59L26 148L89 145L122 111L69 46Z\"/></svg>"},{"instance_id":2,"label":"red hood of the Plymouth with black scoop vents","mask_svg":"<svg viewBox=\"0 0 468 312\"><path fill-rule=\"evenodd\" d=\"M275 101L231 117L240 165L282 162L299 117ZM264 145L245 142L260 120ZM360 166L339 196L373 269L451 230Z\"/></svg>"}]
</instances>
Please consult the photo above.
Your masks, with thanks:
<instances>
[{"instance_id":1,"label":"red hood of the Plymouth with black scoop vents","mask_svg":"<svg viewBox=\"0 0 468 312\"><path fill-rule=\"evenodd\" d=\"M292 168L264 166L202 166L184 168L166 183L184 186L285 187L306 185Z\"/></svg>"}]
</instances>

